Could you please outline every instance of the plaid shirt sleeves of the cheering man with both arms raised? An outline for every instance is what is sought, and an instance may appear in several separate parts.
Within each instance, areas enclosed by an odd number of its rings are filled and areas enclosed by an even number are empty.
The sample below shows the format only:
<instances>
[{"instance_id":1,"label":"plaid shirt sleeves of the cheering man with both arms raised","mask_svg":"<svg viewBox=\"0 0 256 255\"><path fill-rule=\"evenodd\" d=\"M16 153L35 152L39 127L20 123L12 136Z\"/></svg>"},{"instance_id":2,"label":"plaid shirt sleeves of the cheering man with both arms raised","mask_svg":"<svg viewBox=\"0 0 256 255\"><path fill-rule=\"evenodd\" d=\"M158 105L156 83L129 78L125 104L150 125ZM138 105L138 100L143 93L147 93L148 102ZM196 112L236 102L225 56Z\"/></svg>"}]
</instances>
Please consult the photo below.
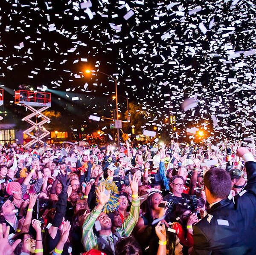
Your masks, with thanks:
<instances>
[{"instance_id":1,"label":"plaid shirt sleeves of the cheering man with both arms raised","mask_svg":"<svg viewBox=\"0 0 256 255\"><path fill-rule=\"evenodd\" d=\"M97 237L93 232L93 225L100 213L101 211L98 211L96 208L94 208L84 221L82 243L84 245L85 251L89 251L90 249L98 249ZM133 198L131 202L130 215L127 219L125 219L122 226L116 229L116 232L118 232L122 237L131 235L131 232L133 231L134 226L138 221L139 214L140 199L136 198L135 200Z\"/></svg>"}]
</instances>

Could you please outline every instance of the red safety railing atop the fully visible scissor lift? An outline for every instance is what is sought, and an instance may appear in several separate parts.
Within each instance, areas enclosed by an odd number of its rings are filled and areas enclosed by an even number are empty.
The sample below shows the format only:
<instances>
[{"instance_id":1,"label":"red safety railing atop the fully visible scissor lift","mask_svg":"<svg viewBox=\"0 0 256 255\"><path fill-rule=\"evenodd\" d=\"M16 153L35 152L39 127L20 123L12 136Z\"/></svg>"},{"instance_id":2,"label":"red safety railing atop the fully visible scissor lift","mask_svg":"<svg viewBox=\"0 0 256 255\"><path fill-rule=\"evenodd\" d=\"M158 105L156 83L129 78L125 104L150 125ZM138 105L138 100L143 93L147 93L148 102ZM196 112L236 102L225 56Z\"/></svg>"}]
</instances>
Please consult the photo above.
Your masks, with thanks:
<instances>
[{"instance_id":1,"label":"red safety railing atop the fully visible scissor lift","mask_svg":"<svg viewBox=\"0 0 256 255\"><path fill-rule=\"evenodd\" d=\"M33 92L30 90L17 90L15 91L15 103L51 103L51 93L47 92Z\"/></svg>"}]
</instances>

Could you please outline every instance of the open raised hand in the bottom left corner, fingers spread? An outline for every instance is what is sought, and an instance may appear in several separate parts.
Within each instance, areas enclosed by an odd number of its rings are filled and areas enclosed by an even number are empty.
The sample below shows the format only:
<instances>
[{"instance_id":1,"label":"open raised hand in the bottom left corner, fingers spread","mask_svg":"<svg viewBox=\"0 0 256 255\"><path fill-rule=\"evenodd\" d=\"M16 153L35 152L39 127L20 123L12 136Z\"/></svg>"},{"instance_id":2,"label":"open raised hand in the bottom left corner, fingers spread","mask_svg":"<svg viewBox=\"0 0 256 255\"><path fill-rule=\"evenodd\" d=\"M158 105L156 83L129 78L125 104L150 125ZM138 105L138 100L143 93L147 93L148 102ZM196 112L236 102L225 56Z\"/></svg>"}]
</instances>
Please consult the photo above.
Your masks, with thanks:
<instances>
[{"instance_id":1,"label":"open raised hand in the bottom left corner, fingers spread","mask_svg":"<svg viewBox=\"0 0 256 255\"><path fill-rule=\"evenodd\" d=\"M6 230L3 230L2 224L0 223L0 254L12 255L16 246L21 242L21 239L17 239L11 246L8 241L10 232L10 226L7 226Z\"/></svg>"}]
</instances>

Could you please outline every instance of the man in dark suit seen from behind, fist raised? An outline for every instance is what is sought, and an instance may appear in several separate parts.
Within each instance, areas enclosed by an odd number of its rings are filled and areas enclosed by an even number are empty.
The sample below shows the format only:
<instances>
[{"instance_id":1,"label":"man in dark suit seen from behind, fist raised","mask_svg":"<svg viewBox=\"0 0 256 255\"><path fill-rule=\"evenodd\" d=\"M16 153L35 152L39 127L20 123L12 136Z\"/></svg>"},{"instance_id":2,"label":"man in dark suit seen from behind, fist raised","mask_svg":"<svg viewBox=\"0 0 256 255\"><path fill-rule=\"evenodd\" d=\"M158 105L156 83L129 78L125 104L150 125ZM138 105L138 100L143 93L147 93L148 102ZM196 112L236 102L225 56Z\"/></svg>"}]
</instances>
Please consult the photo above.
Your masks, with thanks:
<instances>
[{"instance_id":1,"label":"man in dark suit seen from behind, fist raised","mask_svg":"<svg viewBox=\"0 0 256 255\"><path fill-rule=\"evenodd\" d=\"M256 162L246 148L237 149L243 157L247 185L230 197L230 175L222 169L210 169L204 186L210 209L193 226L192 255L255 255L256 254Z\"/></svg>"}]
</instances>

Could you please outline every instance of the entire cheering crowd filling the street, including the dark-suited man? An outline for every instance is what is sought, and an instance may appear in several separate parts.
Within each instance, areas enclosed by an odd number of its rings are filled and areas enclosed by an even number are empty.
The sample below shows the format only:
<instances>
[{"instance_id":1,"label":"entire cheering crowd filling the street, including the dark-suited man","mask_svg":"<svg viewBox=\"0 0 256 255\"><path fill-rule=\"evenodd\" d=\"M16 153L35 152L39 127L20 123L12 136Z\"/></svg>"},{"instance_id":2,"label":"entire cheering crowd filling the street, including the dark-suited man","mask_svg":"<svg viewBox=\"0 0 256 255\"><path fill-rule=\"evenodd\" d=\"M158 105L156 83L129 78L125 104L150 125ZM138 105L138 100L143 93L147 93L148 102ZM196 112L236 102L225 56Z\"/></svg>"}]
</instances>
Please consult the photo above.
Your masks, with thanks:
<instances>
[{"instance_id":1,"label":"entire cheering crowd filling the street, including the dark-suited man","mask_svg":"<svg viewBox=\"0 0 256 255\"><path fill-rule=\"evenodd\" d=\"M9 143L0 193L0 255L256 254L253 138Z\"/></svg>"}]
</instances>

